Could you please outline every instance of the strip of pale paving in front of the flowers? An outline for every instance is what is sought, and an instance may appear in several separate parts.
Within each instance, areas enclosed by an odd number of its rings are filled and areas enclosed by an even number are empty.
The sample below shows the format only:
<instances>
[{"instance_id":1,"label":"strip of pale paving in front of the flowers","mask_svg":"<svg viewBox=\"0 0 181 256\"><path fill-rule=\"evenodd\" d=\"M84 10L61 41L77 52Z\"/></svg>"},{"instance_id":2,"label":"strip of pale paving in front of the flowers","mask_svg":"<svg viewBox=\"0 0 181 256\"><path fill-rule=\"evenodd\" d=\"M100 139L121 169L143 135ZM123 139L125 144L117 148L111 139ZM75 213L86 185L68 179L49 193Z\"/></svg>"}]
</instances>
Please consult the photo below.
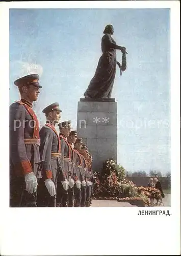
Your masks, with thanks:
<instances>
[{"instance_id":1,"label":"strip of pale paving in front of the flowers","mask_svg":"<svg viewBox=\"0 0 181 256\"><path fill-rule=\"evenodd\" d=\"M116 200L92 200L91 207L137 207L130 203L122 203Z\"/></svg>"}]
</instances>

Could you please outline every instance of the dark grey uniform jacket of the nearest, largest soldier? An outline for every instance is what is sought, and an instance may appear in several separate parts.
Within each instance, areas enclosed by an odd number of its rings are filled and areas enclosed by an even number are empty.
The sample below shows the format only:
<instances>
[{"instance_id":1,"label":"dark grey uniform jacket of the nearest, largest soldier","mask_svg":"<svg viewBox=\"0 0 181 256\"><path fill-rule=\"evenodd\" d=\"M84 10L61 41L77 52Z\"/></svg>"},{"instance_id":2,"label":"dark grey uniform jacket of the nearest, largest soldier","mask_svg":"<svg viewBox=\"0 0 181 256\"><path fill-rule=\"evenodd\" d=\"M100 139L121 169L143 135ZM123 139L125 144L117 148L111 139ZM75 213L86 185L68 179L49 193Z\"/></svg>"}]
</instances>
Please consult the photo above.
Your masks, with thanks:
<instances>
[{"instance_id":1,"label":"dark grey uniform jacket of the nearest, largest soldier","mask_svg":"<svg viewBox=\"0 0 181 256\"><path fill-rule=\"evenodd\" d=\"M39 123L32 104L24 99L10 105L10 178L32 171L37 175Z\"/></svg>"}]
</instances>

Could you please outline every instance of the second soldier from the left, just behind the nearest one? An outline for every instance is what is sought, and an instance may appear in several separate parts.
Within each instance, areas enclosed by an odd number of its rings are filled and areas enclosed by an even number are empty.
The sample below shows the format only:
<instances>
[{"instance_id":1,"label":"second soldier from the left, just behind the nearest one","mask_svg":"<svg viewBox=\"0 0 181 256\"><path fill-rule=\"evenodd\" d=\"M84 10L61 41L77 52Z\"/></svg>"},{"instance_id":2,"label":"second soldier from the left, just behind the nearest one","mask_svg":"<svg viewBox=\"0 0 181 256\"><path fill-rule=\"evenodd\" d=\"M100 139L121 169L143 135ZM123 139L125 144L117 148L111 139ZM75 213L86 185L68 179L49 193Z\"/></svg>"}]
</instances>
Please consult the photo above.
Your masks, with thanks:
<instances>
[{"instance_id":1,"label":"second soldier from the left, just behind the nearest one","mask_svg":"<svg viewBox=\"0 0 181 256\"><path fill-rule=\"evenodd\" d=\"M63 186L67 184L68 189L68 183L61 168L61 142L55 129L62 110L59 109L59 103L55 102L48 105L42 112L46 116L46 124L40 129L42 179L38 185L37 204L38 207L56 207L58 181L60 183L61 180Z\"/></svg>"}]
</instances>

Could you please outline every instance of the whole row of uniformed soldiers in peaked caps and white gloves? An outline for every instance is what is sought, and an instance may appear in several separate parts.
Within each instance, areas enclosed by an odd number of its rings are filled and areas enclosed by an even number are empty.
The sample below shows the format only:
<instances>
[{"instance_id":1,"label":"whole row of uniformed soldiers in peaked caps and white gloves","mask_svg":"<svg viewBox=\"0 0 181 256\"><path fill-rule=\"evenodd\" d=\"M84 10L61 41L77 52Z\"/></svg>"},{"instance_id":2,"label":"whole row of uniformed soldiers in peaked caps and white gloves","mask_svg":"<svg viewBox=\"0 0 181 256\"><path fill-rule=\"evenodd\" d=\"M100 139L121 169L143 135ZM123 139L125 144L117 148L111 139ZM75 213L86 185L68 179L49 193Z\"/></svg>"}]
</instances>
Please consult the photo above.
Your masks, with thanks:
<instances>
[{"instance_id":1,"label":"whole row of uniformed soldiers in peaked caps and white gloves","mask_svg":"<svg viewBox=\"0 0 181 256\"><path fill-rule=\"evenodd\" d=\"M39 131L32 109L42 88L37 74L14 84L21 100L10 105L10 207L90 206L93 174L87 145L71 130L71 121L59 123L57 102L42 111L46 123Z\"/></svg>"}]
</instances>

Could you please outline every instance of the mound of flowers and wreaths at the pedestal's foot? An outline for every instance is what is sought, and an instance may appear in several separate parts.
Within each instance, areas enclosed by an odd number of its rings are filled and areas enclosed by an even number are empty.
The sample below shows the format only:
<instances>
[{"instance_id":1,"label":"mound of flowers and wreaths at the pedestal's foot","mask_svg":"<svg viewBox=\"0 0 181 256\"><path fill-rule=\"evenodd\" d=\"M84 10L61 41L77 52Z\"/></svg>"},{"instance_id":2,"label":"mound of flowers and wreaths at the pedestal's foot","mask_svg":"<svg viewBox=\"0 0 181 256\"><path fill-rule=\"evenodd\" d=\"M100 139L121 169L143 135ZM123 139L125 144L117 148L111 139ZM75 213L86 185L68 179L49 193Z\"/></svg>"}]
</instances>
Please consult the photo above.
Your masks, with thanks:
<instances>
[{"instance_id":1,"label":"mound of flowers and wreaths at the pedestal's foot","mask_svg":"<svg viewBox=\"0 0 181 256\"><path fill-rule=\"evenodd\" d=\"M125 170L112 159L103 164L102 172L95 173L92 199L118 200L137 206L149 206L149 198L159 198L155 188L137 187L125 178Z\"/></svg>"}]
</instances>

